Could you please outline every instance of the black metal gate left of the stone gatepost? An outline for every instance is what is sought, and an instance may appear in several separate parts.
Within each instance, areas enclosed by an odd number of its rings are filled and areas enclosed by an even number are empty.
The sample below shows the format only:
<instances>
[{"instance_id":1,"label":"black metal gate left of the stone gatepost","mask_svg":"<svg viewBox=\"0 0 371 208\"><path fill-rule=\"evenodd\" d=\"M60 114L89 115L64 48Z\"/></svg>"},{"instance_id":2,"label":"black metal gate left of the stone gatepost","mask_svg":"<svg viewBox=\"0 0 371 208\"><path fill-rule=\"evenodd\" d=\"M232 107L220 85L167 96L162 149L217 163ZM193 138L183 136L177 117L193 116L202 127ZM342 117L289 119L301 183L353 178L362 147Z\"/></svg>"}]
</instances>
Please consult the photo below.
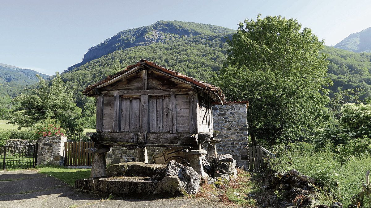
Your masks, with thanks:
<instances>
[{"instance_id":1,"label":"black metal gate left of the stone gatepost","mask_svg":"<svg viewBox=\"0 0 371 208\"><path fill-rule=\"evenodd\" d=\"M0 167L34 168L37 165L37 143L34 145L0 146Z\"/></svg>"}]
</instances>

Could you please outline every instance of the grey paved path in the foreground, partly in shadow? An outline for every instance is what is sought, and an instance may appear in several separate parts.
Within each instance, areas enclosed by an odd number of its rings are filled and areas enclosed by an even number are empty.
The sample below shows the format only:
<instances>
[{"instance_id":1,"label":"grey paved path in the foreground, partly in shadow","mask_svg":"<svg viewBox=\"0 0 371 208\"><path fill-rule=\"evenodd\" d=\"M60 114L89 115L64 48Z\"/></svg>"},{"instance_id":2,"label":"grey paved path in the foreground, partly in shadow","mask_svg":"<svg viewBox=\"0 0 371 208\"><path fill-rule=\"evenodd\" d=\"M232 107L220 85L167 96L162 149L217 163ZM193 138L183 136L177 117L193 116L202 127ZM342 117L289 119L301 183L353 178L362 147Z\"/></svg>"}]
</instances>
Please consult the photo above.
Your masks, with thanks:
<instances>
[{"instance_id":1,"label":"grey paved path in the foreground, partly in shadow","mask_svg":"<svg viewBox=\"0 0 371 208\"><path fill-rule=\"evenodd\" d=\"M159 199L143 200L117 197L102 200L101 197L78 191L56 178L35 170L0 171L0 207L226 207L207 199Z\"/></svg>"}]
</instances>

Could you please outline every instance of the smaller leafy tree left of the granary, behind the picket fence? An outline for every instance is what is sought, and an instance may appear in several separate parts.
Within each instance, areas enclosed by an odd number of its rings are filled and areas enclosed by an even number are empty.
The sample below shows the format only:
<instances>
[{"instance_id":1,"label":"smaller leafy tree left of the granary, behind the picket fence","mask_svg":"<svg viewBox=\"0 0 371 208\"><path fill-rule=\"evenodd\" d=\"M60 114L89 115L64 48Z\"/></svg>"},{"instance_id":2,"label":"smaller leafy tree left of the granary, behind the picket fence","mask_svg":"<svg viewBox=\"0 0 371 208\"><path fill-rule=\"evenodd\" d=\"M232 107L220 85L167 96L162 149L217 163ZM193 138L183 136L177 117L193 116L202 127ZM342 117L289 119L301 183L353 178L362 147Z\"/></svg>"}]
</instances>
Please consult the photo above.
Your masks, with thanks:
<instances>
[{"instance_id":1,"label":"smaller leafy tree left of the granary, behind the picket fence","mask_svg":"<svg viewBox=\"0 0 371 208\"><path fill-rule=\"evenodd\" d=\"M39 85L35 89L26 89L14 102L20 107L13 111L9 124L17 124L19 128L33 127L47 120L56 123L67 130L69 135L79 135L83 131L81 124L81 108L77 107L72 93L65 86L58 72L46 83L38 76Z\"/></svg>"}]
</instances>

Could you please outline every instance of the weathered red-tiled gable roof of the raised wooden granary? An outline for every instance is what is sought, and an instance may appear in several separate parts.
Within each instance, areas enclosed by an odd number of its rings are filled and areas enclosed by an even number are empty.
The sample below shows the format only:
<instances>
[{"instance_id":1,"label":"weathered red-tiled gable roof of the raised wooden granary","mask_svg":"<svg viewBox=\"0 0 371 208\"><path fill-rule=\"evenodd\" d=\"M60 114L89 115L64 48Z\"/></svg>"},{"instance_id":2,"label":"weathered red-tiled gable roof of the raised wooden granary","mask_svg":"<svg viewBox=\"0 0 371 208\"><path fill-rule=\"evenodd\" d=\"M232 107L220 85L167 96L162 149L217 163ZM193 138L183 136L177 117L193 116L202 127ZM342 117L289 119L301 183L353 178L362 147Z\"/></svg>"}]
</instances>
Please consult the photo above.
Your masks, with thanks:
<instances>
[{"instance_id":1,"label":"weathered red-tiled gable roof of the raised wooden granary","mask_svg":"<svg viewBox=\"0 0 371 208\"><path fill-rule=\"evenodd\" d=\"M161 70L169 75L172 75L176 78L179 78L181 80L184 80L184 81L187 81L188 83L191 83L191 84L194 84L196 85L197 87L201 88L201 90L205 91L206 93L212 93L214 94L217 98L219 98L218 100L220 102L223 102L224 101L224 94L223 92L221 91L221 89L219 87L215 87L214 85L212 84L208 84L208 83L205 83L203 81L200 81L200 80L196 80L195 78L193 77L188 77L184 74L180 74L174 70L171 70L171 69L168 69L168 68L165 68L165 67L162 67L158 64L155 64L151 61L147 61L147 60L144 60L144 59L141 59L140 61L138 61L137 64L134 64L134 65L131 65L131 66L127 66L125 70L122 70L122 71L119 71L118 73L114 74L114 75L111 75L111 76L108 76L106 77L104 80L101 80L95 84L91 84L89 85L88 87L86 87L86 89L83 91L83 94L84 95L87 95L87 96L93 96L93 92L92 90L96 87L98 87L99 85L101 84L104 84L106 82L108 82L109 80L112 80L113 78L115 77L118 77L120 76L121 74L125 74L127 71L135 68L135 67L138 67L138 66L143 66L143 67L153 67L153 68L156 68L158 70Z\"/></svg>"}]
</instances>

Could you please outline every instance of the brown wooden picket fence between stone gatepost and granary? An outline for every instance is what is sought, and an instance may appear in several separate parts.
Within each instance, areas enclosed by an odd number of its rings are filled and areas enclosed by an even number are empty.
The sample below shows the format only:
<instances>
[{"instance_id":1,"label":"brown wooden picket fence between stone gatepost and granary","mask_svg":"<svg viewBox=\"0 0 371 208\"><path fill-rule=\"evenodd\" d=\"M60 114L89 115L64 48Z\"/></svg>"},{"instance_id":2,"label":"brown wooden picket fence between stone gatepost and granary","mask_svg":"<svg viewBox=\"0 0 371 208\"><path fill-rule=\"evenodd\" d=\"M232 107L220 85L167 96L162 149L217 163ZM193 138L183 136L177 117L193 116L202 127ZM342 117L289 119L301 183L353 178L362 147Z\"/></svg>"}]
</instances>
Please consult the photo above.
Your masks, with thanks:
<instances>
[{"instance_id":1,"label":"brown wooden picket fence between stone gatepost and granary","mask_svg":"<svg viewBox=\"0 0 371 208\"><path fill-rule=\"evenodd\" d=\"M93 163L93 153L85 152L89 147L94 147L94 142L65 142L65 166L90 167Z\"/></svg>"}]
</instances>

